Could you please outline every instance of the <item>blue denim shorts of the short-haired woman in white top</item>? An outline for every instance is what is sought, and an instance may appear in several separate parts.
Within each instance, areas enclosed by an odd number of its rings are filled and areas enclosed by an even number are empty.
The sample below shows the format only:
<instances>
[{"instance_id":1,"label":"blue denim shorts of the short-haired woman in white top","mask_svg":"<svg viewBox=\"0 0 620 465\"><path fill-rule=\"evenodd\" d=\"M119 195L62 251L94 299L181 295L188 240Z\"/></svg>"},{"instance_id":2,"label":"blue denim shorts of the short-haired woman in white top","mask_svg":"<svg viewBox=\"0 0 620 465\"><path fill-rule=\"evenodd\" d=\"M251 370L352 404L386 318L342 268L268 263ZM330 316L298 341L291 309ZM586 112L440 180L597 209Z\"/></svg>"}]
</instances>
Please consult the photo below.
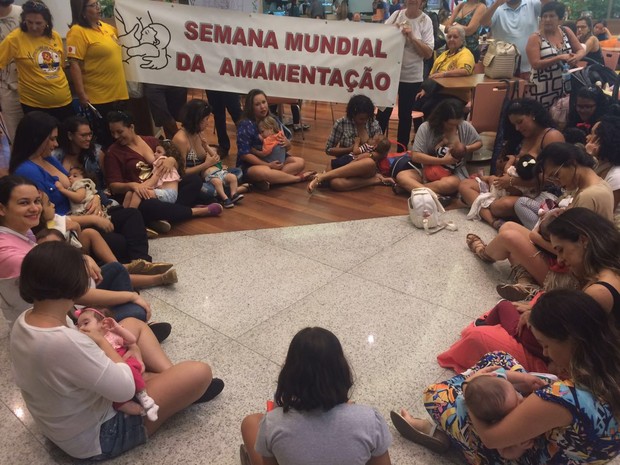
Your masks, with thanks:
<instances>
[{"instance_id":1,"label":"blue denim shorts of the short-haired woman in white top","mask_svg":"<svg viewBox=\"0 0 620 465\"><path fill-rule=\"evenodd\" d=\"M109 460L147 441L144 417L118 412L101 425L101 454L89 460Z\"/></svg>"}]
</instances>

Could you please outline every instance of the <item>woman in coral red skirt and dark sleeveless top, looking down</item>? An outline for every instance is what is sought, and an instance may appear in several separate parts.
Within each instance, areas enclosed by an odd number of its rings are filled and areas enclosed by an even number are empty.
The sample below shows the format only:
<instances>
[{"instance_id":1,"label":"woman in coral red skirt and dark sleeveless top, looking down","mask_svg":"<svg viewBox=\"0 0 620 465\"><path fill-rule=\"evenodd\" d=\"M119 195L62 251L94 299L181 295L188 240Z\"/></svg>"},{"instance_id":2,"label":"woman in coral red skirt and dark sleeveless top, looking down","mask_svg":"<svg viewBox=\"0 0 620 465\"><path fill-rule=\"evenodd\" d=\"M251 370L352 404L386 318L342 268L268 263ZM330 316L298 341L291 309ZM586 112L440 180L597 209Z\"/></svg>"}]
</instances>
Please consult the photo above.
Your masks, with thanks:
<instances>
[{"instance_id":1,"label":"woman in coral red skirt and dark sleeveless top, looking down","mask_svg":"<svg viewBox=\"0 0 620 465\"><path fill-rule=\"evenodd\" d=\"M620 322L620 232L587 208L571 208L549 223L557 261L578 286ZM487 352L518 357L529 371L546 371L548 359L524 325L531 306L507 300L461 333L459 341L437 356L442 367L463 371Z\"/></svg>"}]
</instances>

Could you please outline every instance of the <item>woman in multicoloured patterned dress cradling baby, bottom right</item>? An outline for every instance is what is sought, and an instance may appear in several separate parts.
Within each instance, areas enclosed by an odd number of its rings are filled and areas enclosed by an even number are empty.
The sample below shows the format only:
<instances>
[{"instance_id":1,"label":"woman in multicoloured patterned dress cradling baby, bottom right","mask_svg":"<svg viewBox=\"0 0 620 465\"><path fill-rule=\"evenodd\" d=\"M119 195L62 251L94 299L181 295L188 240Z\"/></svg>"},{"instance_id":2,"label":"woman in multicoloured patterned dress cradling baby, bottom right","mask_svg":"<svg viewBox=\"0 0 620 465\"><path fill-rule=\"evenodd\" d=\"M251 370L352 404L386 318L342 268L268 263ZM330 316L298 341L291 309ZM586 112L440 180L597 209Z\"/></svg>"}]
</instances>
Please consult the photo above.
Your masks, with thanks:
<instances>
[{"instance_id":1,"label":"woman in multicoloured patterned dress cradling baby, bottom right","mask_svg":"<svg viewBox=\"0 0 620 465\"><path fill-rule=\"evenodd\" d=\"M598 464L616 457L620 334L608 314L581 291L555 290L534 305L530 325L567 377L547 384L511 355L490 353L471 370L426 388L432 424L403 409L392 412L397 430L436 451L455 445L470 464ZM468 408L468 391L477 378L498 375L483 380L499 381L486 399L495 417L488 422Z\"/></svg>"}]
</instances>

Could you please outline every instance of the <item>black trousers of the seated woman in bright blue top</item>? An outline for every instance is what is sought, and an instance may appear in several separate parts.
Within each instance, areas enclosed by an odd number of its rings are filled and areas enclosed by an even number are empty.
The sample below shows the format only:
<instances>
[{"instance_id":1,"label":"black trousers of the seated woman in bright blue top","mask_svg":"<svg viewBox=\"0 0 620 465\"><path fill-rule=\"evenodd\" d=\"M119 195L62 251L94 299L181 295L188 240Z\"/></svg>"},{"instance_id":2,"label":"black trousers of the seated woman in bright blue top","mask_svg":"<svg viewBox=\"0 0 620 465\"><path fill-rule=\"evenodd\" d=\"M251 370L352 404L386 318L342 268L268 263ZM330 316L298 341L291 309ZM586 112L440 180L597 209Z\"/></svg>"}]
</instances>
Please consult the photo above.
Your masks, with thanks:
<instances>
[{"instance_id":1,"label":"black trousers of the seated woman in bright blue top","mask_svg":"<svg viewBox=\"0 0 620 465\"><path fill-rule=\"evenodd\" d=\"M135 208L114 208L109 213L114 232L101 235L116 259L121 263L138 258L150 262L149 242L140 212Z\"/></svg>"}]
</instances>

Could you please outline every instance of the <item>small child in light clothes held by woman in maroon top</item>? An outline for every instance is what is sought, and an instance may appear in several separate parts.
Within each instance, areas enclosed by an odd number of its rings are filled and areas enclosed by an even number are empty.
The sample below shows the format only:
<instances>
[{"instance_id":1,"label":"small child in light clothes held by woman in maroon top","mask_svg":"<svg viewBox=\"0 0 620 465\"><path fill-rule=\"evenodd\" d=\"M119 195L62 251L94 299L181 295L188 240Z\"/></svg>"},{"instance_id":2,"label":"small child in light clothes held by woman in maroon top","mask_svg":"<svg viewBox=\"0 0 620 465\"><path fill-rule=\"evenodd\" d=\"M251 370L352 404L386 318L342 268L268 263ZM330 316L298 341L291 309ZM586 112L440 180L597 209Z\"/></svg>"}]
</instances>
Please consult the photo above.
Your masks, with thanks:
<instances>
[{"instance_id":1,"label":"small child in light clothes held by woman in maroon top","mask_svg":"<svg viewBox=\"0 0 620 465\"><path fill-rule=\"evenodd\" d=\"M177 168L163 174L162 164L167 157L176 160ZM128 191L123 200L123 207L138 208L143 198L157 198L162 202L175 203L179 196L179 181L183 176L184 166L184 160L176 145L168 140L160 141L155 148L155 161L153 162L151 176L142 183L142 186L148 190L142 194ZM142 197L143 195L148 197Z\"/></svg>"}]
</instances>

